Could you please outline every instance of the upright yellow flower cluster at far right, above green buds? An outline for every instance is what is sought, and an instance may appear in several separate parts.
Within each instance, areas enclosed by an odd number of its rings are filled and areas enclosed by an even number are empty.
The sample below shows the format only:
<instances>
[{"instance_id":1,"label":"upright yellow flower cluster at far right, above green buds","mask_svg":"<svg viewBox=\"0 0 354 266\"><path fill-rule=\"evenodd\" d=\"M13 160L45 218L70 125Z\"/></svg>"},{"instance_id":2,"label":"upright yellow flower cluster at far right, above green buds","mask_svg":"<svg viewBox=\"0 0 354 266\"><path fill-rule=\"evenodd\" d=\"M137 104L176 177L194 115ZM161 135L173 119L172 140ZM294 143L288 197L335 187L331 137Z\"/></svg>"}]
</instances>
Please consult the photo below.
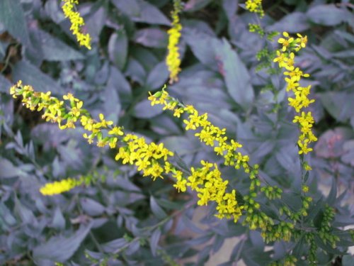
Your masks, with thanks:
<instances>
[{"instance_id":1,"label":"upright yellow flower cluster at far right, above green buds","mask_svg":"<svg viewBox=\"0 0 354 266\"><path fill-rule=\"evenodd\" d=\"M278 62L279 67L285 69L285 82L287 82L287 92L292 91L294 97L289 97L289 105L295 109L297 116L295 116L293 123L299 125L301 134L297 145L299 145L299 154L307 154L312 151L309 148L309 143L317 140L312 132L314 118L310 111L303 111L309 104L314 102L314 99L309 99L311 85L308 87L301 87L299 81L302 77L309 77L309 74L304 74L299 67L295 67L295 53L300 49L305 48L307 44L307 37L299 33L297 38L290 37L289 33L282 33L284 38L279 38L278 43L282 45L281 50L277 50L277 57L273 60Z\"/></svg>"}]
</instances>

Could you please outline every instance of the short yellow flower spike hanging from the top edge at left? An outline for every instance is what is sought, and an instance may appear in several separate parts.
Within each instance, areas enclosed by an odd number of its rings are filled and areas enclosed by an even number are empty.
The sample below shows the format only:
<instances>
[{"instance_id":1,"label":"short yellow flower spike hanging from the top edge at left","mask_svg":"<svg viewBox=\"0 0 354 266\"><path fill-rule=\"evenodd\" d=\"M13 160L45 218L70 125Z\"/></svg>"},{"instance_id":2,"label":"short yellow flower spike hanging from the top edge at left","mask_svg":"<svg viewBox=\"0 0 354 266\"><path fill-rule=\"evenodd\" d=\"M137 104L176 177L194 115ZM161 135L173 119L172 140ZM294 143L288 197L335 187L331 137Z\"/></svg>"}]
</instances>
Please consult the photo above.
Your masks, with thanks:
<instances>
[{"instance_id":1,"label":"short yellow flower spike hanging from the top edge at left","mask_svg":"<svg viewBox=\"0 0 354 266\"><path fill-rule=\"evenodd\" d=\"M82 26L85 25L84 18L75 10L75 4L79 4L79 0L62 0L64 2L62 10L66 18L69 18L72 26L70 30L76 36L77 41L81 46L85 46L91 50L91 36L89 33L83 33Z\"/></svg>"}]
</instances>

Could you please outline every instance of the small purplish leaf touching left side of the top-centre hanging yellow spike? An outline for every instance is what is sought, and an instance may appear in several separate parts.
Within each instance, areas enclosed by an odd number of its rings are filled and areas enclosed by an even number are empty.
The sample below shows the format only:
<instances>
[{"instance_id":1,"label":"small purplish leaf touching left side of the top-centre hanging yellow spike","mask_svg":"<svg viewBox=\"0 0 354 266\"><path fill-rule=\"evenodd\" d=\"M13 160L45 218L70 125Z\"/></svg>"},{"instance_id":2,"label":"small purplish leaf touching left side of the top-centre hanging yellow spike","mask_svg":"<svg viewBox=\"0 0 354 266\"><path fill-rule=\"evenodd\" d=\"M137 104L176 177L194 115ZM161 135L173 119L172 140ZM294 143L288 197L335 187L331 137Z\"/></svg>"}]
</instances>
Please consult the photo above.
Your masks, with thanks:
<instances>
[{"instance_id":1,"label":"small purplish leaf touching left side of the top-centre hanging yellow spike","mask_svg":"<svg viewBox=\"0 0 354 266\"><path fill-rule=\"evenodd\" d=\"M135 33L134 40L149 48L166 48L168 36L159 28L143 28Z\"/></svg>"}]
</instances>

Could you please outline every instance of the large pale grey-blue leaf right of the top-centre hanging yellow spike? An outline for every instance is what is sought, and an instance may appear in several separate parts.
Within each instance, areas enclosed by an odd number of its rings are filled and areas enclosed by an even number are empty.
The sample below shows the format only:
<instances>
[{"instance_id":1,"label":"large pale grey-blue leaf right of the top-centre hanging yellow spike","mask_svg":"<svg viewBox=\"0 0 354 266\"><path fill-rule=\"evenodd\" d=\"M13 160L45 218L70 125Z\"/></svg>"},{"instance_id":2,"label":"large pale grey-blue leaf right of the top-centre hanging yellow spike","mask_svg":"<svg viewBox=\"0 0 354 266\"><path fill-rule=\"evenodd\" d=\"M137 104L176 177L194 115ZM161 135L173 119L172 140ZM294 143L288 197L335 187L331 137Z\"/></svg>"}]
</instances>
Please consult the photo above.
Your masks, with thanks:
<instances>
[{"instance_id":1,"label":"large pale grey-blue leaf right of the top-centre hanging yellow spike","mask_svg":"<svg viewBox=\"0 0 354 266\"><path fill-rule=\"evenodd\" d=\"M236 51L232 50L226 39L223 39L222 43L216 44L215 53L217 61L220 62L221 70L219 72L224 76L227 91L232 99L240 104L245 111L251 109L254 93L251 77L244 62L241 61Z\"/></svg>"}]
</instances>

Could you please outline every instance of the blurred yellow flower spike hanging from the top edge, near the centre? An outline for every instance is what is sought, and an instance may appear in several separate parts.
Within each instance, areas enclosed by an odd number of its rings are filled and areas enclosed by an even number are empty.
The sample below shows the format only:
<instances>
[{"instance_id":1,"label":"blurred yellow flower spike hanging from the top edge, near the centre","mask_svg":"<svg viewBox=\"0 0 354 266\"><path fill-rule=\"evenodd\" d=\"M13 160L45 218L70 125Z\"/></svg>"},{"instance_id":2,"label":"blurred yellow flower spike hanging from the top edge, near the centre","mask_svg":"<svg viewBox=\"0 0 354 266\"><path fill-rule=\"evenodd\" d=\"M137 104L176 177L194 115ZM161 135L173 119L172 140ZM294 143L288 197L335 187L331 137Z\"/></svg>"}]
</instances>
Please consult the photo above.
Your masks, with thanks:
<instances>
[{"instance_id":1,"label":"blurred yellow flower spike hanging from the top edge, near the centre","mask_svg":"<svg viewBox=\"0 0 354 266\"><path fill-rule=\"evenodd\" d=\"M178 13L181 12L181 0L175 0L172 11L172 27L167 31L169 34L169 45L167 49L169 53L166 57L166 65L169 67L170 84L178 81L178 73L181 71L181 58L178 52L178 43L181 38L182 25L179 21Z\"/></svg>"}]
</instances>

